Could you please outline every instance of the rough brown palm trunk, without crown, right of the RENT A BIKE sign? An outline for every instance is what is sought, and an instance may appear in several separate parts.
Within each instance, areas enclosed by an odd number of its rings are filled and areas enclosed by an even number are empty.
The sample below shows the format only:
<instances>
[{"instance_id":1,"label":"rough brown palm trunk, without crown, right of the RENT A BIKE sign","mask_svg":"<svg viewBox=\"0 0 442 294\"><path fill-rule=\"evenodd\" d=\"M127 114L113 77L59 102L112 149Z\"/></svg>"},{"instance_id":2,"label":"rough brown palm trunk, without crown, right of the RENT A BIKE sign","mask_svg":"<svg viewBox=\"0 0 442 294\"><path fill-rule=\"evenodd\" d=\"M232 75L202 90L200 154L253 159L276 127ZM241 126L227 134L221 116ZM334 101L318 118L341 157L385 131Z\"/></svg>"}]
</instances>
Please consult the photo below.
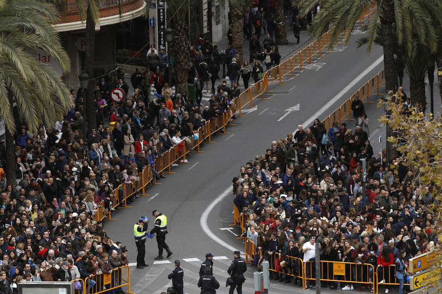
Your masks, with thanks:
<instances>
[{"instance_id":1,"label":"rough brown palm trunk, without crown, right of the RENT A BIKE sign","mask_svg":"<svg viewBox=\"0 0 442 294\"><path fill-rule=\"evenodd\" d=\"M176 93L189 95L187 88L187 78L189 75L189 30L186 20L177 20L173 24L173 48L172 56L173 68L175 69L175 89Z\"/></svg>"}]
</instances>

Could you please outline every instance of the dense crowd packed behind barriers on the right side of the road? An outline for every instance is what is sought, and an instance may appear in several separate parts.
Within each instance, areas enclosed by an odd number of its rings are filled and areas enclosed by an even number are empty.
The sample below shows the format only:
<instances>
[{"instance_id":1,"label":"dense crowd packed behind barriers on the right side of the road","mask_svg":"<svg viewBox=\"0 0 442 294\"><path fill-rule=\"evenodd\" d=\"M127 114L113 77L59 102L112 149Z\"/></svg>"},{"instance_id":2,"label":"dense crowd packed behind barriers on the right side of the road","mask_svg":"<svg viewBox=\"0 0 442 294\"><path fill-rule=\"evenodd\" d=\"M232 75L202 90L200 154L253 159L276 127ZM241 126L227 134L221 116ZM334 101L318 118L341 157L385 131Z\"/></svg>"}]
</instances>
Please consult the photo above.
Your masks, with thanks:
<instances>
[{"instance_id":1,"label":"dense crowd packed behind barriers on the right side of the road","mask_svg":"<svg viewBox=\"0 0 442 294\"><path fill-rule=\"evenodd\" d=\"M409 259L441 249L430 210L433 187L422 188L400 157L387 162L385 151L373 153L363 104L354 102L354 131L346 123L326 130L319 120L305 130L299 125L295 134L272 142L265 154L241 167L233 178L233 202L247 220L244 236L261 252L255 265L276 260L280 272L271 271L271 278L290 283L290 272L295 284L301 283L296 278L302 275L300 266L289 256L307 262L309 278L318 243L320 260L370 264L381 287L386 280L394 283L395 276L402 294ZM362 158L367 162L365 195ZM389 265L395 270L384 270ZM352 270L355 282L340 283L340 288L362 291L366 284L357 283L357 275L365 283L374 277L372 269L364 269L348 266L346 276ZM313 284L307 280L306 288ZM328 285L338 288L335 282Z\"/></svg>"}]
</instances>

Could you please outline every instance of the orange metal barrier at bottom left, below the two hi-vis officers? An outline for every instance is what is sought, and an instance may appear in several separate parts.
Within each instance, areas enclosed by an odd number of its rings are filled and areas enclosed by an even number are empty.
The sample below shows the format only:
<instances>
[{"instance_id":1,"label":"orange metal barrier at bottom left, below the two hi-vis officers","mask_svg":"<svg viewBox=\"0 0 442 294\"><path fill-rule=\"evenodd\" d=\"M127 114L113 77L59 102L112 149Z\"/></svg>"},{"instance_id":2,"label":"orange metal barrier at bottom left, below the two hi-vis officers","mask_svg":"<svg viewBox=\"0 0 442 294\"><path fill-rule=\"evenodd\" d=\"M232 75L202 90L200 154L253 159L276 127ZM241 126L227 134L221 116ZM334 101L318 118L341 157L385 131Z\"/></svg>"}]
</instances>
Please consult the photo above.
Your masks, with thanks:
<instances>
[{"instance_id":1,"label":"orange metal barrier at bottom left, below the two hi-vis officers","mask_svg":"<svg viewBox=\"0 0 442 294\"><path fill-rule=\"evenodd\" d=\"M95 282L95 285L88 288L90 280ZM131 292L131 278L129 266L123 266L118 268L118 270L112 270L110 274L101 273L94 275L91 278L86 278L83 283L83 294L100 294L107 293L112 289L119 289L121 287L128 286L128 291L126 293L133 294Z\"/></svg>"}]
</instances>

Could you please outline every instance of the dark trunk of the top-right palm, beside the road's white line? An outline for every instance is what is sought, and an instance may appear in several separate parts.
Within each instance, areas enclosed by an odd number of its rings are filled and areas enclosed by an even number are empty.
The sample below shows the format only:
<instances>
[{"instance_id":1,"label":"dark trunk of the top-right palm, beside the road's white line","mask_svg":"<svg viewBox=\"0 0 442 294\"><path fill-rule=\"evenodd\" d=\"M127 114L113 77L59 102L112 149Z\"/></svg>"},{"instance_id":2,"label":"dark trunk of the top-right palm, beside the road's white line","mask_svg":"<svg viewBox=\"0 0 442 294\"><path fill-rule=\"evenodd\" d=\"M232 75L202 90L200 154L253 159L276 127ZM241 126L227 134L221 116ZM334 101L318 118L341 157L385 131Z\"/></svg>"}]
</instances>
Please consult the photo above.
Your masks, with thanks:
<instances>
[{"instance_id":1,"label":"dark trunk of the top-right palm, beside the road's white line","mask_svg":"<svg viewBox=\"0 0 442 294\"><path fill-rule=\"evenodd\" d=\"M381 1L378 1L381 2ZM394 70L394 36L393 36L393 23L394 23L394 4L392 0L384 2L381 9L381 35L384 48L384 73L385 73L385 88L386 92L389 90L395 90L395 80L397 79L396 72Z\"/></svg>"}]
</instances>

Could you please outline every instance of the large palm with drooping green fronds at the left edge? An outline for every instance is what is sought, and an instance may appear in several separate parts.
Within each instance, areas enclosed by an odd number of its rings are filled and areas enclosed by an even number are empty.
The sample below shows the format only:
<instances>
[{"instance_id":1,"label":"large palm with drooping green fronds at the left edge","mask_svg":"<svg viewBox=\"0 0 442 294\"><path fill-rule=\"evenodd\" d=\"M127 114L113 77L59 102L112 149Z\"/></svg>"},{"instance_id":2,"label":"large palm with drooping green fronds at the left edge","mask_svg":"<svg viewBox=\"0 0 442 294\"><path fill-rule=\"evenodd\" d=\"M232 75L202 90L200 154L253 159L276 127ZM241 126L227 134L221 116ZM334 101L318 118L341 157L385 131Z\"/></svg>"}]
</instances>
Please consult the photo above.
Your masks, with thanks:
<instances>
[{"instance_id":1,"label":"large palm with drooping green fronds at the left edge","mask_svg":"<svg viewBox=\"0 0 442 294\"><path fill-rule=\"evenodd\" d=\"M7 183L13 187L13 134L17 124L25 123L36 133L42 125L55 126L71 108L69 89L51 66L36 60L34 53L51 56L64 73L69 71L69 57L52 26L57 19L52 4L0 0L0 116L6 127Z\"/></svg>"}]
</instances>

